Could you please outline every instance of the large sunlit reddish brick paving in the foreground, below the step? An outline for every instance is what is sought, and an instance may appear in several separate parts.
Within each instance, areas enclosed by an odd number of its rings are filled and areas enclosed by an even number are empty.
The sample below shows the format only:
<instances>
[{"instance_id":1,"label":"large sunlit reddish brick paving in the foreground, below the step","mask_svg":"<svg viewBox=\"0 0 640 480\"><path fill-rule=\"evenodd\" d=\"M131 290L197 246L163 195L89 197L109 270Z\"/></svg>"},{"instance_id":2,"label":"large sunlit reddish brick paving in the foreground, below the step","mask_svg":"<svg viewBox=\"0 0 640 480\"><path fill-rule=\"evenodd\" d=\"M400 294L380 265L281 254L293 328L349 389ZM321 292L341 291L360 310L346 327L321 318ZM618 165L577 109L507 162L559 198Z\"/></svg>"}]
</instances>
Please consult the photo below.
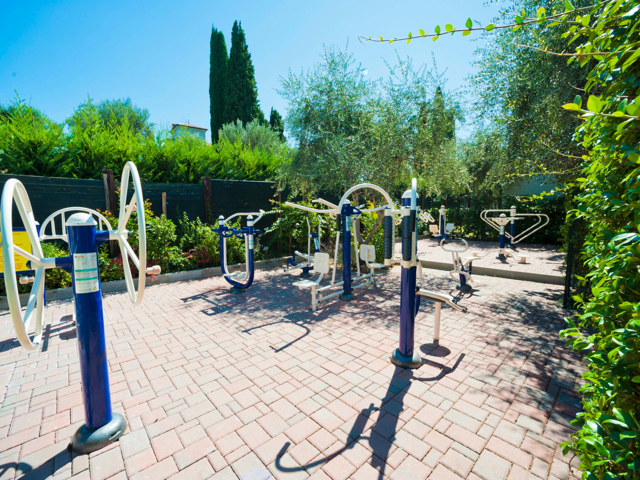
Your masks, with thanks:
<instances>
[{"instance_id":1,"label":"large sunlit reddish brick paving in the foreground, below the step","mask_svg":"<svg viewBox=\"0 0 640 480\"><path fill-rule=\"evenodd\" d=\"M112 399L129 429L88 456L67 452L83 423L70 303L48 308L37 353L0 315L0 479L572 478L577 459L557 445L583 367L557 339L559 287L486 278L461 300L467 314L443 308L435 350L423 305L424 365L405 371L388 362L398 271L316 314L276 269L246 296L220 277L150 287L138 308L106 295ZM445 272L424 272L420 284L449 291Z\"/></svg>"}]
</instances>

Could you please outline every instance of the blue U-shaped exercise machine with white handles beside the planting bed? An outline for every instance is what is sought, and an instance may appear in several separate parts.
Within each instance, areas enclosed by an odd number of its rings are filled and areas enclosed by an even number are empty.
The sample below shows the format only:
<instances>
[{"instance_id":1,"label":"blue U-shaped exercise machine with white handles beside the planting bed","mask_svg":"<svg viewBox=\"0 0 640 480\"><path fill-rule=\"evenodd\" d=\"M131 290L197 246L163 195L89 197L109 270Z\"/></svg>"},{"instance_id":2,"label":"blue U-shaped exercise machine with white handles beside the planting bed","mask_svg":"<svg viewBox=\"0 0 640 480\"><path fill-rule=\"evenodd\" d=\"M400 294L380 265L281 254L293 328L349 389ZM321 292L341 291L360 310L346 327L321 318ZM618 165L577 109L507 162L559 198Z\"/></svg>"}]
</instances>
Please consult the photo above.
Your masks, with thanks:
<instances>
[{"instance_id":1,"label":"blue U-shaped exercise machine with white handles beside the planting bed","mask_svg":"<svg viewBox=\"0 0 640 480\"><path fill-rule=\"evenodd\" d=\"M258 218L253 220L253 215L257 215ZM211 228L213 232L220 235L220 266L225 280L232 285L229 293L244 293L253 283L253 235L262 232L262 230L253 228L253 224L259 221L262 215L264 215L264 210L253 213L236 213L227 219L220 215L218 217L218 228ZM241 227L238 230L225 225L225 223L237 216L246 216L246 227ZM244 271L242 271L241 267L238 271L230 273L227 267L227 239L234 235L239 239L244 239L244 262L246 267Z\"/></svg>"}]
</instances>

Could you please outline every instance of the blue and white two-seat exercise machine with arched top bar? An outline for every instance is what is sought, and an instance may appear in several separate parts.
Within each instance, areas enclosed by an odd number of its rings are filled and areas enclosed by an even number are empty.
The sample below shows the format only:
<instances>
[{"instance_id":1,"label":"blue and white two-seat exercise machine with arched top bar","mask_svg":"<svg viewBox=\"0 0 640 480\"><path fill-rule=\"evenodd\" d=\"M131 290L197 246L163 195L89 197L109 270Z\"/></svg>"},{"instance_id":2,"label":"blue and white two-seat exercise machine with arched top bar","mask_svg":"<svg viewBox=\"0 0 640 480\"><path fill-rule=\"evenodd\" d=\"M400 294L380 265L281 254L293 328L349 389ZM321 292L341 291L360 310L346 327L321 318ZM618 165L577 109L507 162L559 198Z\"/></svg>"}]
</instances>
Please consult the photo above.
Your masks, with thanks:
<instances>
[{"instance_id":1,"label":"blue and white two-seat exercise machine with arched top bar","mask_svg":"<svg viewBox=\"0 0 640 480\"><path fill-rule=\"evenodd\" d=\"M375 207L372 209L362 209L362 205L360 207L353 207L351 202L347 200L347 197L351 195L354 191L362 188L371 188L378 192L380 192L387 202L385 205L381 205L380 207ZM305 289L311 289L311 308L315 312L317 308L317 304L324 300L329 300L337 296L340 300L349 301L355 298L355 294L353 293L353 289L360 287L369 287L369 289L373 289L375 286L375 275L376 268L383 268L384 266L391 265L391 260L393 259L392 253L392 245L390 243L388 246L388 257L387 257L387 246L385 243L385 263L380 264L376 263L376 250L373 245L360 245L358 247L358 240L356 238L355 233L353 234L353 246L355 247L355 252L360 255L360 259L364 260L365 265L369 268L369 273L361 273L360 272L360 262L356 262L356 276L351 277L351 218L358 218L361 214L365 212L376 212L379 210L385 210L385 221L387 219L387 211L394 212L393 207L394 203L391 200L391 197L388 193L380 188L377 185L363 183L352 188L348 189L338 205L332 204L331 202L327 202L322 198L318 198L317 200L313 200L314 203L324 204L330 207L329 209L313 209L310 207L306 207L305 205L292 204L291 202L287 202L286 205L290 207L296 207L301 210L305 210L308 212L329 214L332 218L336 220L336 234L335 234L335 249L333 252L333 273L330 283L328 285L320 286L320 282L322 280L322 276L324 273L328 273L329 271L329 256L327 253L316 253L314 256L314 271L320 273L321 275L315 282L311 280L301 280L300 282L294 282L294 286ZM399 211L397 211L399 213ZM393 220L393 213L389 213L390 221ZM335 273L337 269L338 263L338 246L340 244L340 235L342 235L342 281L335 281ZM385 239L385 242L387 240ZM325 257L326 255L326 257ZM388 262L387 262L388 259ZM325 263L326 262L326 263ZM353 285L353 282L358 280L364 280L364 283ZM342 287L340 291L332 292L330 294L324 294L324 292L333 289L335 287Z\"/></svg>"}]
</instances>

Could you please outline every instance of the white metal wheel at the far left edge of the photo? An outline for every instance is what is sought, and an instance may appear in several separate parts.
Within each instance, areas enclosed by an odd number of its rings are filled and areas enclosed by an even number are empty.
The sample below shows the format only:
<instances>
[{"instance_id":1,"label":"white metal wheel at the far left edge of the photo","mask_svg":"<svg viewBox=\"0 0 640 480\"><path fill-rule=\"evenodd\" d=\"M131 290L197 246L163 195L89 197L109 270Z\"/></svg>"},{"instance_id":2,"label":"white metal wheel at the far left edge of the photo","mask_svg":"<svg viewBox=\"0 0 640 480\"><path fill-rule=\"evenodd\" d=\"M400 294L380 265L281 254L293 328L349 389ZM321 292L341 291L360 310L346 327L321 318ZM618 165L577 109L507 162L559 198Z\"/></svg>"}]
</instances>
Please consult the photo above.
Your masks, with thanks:
<instances>
[{"instance_id":1,"label":"white metal wheel at the far left edge of the photo","mask_svg":"<svg viewBox=\"0 0 640 480\"><path fill-rule=\"evenodd\" d=\"M31 242L33 253L22 250L13 244L13 201L20 213L22 223ZM2 198L0 200L0 236L2 240L2 255L4 264L4 287L6 300L15 328L15 334L23 348L36 350L42 340L42 319L44 316L44 271L55 266L54 259L45 259L38 238L33 209L27 191L22 182L17 179L9 179L4 184ZM23 314L18 294L18 282L15 278L14 253L31 261L31 269L36 271L27 308ZM35 315L35 332L33 340L29 339L29 325Z\"/></svg>"}]
</instances>

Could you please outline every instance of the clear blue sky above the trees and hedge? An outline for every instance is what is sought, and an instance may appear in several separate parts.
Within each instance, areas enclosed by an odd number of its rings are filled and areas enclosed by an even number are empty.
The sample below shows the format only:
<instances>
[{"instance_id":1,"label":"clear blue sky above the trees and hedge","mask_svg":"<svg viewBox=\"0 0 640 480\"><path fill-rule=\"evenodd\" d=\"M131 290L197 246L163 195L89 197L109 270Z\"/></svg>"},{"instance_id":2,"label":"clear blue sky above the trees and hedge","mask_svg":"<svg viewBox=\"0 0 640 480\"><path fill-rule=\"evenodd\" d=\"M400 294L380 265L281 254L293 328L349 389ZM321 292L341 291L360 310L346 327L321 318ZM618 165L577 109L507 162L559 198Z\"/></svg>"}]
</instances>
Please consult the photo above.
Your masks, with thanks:
<instances>
[{"instance_id":1,"label":"clear blue sky above the trees and hedge","mask_svg":"<svg viewBox=\"0 0 640 480\"><path fill-rule=\"evenodd\" d=\"M483 0L371 1L59 1L6 2L0 17L0 102L31 101L61 122L89 94L95 100L131 97L159 125L184 122L209 128L209 37L225 33L230 48L241 20L255 66L262 110L282 115L274 91L288 68L300 72L318 60L323 44L349 49L369 70L385 76L382 58L395 49L414 65L447 69L449 88L465 84L477 34L414 40L407 45L362 45L357 36L400 36L436 24L462 27L471 17L486 24L498 6ZM207 132L207 139L211 138Z\"/></svg>"}]
</instances>

